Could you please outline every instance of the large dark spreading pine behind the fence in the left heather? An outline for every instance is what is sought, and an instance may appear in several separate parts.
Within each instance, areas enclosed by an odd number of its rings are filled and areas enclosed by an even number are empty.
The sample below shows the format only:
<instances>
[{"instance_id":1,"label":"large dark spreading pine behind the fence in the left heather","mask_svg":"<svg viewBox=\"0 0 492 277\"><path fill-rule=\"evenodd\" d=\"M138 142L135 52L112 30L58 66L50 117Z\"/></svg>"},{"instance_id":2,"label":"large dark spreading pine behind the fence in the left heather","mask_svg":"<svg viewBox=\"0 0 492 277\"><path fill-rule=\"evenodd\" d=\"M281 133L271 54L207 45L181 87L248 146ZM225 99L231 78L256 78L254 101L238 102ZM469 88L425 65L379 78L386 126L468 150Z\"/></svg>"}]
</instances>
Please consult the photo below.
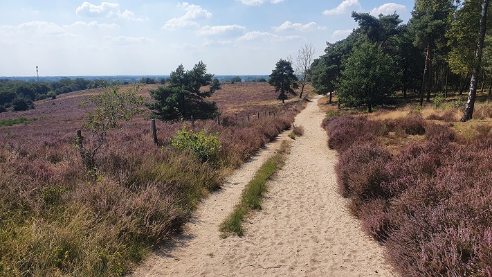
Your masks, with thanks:
<instances>
[{"instance_id":1,"label":"large dark spreading pine behind the fence in the left heather","mask_svg":"<svg viewBox=\"0 0 492 277\"><path fill-rule=\"evenodd\" d=\"M179 65L176 71L171 72L167 80L169 84L149 90L154 99L154 102L147 104L152 109L152 116L163 120L213 116L217 113L217 105L206 102L205 98L220 89L220 83L212 77L203 62L195 64L190 71L185 71L183 64ZM207 86L208 90L201 91L202 87Z\"/></svg>"}]
</instances>

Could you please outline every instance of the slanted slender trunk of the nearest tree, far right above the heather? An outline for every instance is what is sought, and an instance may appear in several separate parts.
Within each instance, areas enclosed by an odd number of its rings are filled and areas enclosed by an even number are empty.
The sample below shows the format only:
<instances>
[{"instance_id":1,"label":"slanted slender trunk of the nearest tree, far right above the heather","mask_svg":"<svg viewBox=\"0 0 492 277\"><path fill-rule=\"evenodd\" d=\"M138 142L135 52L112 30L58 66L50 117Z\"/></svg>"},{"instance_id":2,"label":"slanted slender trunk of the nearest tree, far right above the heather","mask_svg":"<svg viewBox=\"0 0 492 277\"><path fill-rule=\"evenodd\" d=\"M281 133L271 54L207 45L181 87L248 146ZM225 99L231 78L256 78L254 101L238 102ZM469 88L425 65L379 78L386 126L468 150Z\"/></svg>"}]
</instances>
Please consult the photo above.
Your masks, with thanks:
<instances>
[{"instance_id":1,"label":"slanted slender trunk of the nearest tree, far right above the heather","mask_svg":"<svg viewBox=\"0 0 492 277\"><path fill-rule=\"evenodd\" d=\"M484 48L487 9L489 8L489 1L490 0L482 1L482 14L480 15L480 37L477 43L477 50L475 51L475 62L471 71L468 101L466 101L466 107L463 113L462 122L466 122L467 120L473 118L473 109L475 108L475 98L477 96L477 77L480 73L480 63L482 63L482 51Z\"/></svg>"}]
</instances>

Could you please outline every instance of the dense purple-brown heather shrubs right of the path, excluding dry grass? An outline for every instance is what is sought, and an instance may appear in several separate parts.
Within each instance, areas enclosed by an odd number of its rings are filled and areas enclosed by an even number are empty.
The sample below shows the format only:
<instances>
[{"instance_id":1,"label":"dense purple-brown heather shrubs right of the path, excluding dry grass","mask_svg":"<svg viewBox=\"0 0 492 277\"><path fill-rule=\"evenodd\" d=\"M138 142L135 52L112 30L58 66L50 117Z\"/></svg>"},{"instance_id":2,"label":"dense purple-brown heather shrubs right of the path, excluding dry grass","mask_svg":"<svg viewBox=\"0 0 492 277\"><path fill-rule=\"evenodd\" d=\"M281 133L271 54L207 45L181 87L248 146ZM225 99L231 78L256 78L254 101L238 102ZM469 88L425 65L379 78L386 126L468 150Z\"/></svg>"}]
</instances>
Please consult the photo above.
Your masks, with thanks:
<instances>
[{"instance_id":1,"label":"dense purple-brown heather shrubs right of the path, excluding dry grass","mask_svg":"<svg viewBox=\"0 0 492 277\"><path fill-rule=\"evenodd\" d=\"M340 152L340 190L401 276L491 276L492 138L459 145L447 126L425 127L424 143L393 156L370 143Z\"/></svg>"}]
</instances>

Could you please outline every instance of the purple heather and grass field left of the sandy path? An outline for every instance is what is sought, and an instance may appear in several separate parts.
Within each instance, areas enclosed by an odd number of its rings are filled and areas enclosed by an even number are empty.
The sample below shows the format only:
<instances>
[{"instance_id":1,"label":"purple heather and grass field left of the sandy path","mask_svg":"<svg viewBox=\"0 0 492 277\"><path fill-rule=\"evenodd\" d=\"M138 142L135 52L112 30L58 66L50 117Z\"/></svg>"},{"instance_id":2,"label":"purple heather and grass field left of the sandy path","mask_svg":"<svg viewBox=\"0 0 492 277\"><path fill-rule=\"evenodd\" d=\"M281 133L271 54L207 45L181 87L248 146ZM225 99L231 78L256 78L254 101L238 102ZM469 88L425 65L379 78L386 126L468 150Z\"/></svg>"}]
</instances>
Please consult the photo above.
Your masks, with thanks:
<instances>
[{"instance_id":1,"label":"purple heather and grass field left of the sandy path","mask_svg":"<svg viewBox=\"0 0 492 277\"><path fill-rule=\"evenodd\" d=\"M138 94L148 98L154 88ZM304 105L298 98L281 105L267 83L223 84L212 96L221 125L157 120L155 145L144 111L107 134L97 168L88 169L75 130L92 108L80 102L94 93L66 93L0 114L8 123L0 124L0 276L125 274L179 232L199 199L289 128ZM179 131L217 136L219 151L206 161L180 151L170 140ZM89 131L82 134L84 145L95 143Z\"/></svg>"}]
</instances>

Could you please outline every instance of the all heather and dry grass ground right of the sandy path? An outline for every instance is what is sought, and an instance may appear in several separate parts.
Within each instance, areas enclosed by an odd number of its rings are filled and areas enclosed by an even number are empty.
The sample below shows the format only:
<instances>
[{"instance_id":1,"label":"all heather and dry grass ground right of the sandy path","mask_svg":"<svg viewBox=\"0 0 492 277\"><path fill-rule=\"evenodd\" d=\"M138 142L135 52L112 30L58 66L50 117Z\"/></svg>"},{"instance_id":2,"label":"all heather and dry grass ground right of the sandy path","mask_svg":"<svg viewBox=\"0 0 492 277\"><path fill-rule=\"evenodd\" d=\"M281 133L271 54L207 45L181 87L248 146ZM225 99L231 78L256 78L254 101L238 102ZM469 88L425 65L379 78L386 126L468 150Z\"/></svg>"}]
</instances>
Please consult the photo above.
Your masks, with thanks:
<instances>
[{"instance_id":1,"label":"all heather and dry grass ground right of the sandy path","mask_svg":"<svg viewBox=\"0 0 492 277\"><path fill-rule=\"evenodd\" d=\"M401 276L492 276L492 105L461 123L452 104L323 122L340 193Z\"/></svg>"}]
</instances>

